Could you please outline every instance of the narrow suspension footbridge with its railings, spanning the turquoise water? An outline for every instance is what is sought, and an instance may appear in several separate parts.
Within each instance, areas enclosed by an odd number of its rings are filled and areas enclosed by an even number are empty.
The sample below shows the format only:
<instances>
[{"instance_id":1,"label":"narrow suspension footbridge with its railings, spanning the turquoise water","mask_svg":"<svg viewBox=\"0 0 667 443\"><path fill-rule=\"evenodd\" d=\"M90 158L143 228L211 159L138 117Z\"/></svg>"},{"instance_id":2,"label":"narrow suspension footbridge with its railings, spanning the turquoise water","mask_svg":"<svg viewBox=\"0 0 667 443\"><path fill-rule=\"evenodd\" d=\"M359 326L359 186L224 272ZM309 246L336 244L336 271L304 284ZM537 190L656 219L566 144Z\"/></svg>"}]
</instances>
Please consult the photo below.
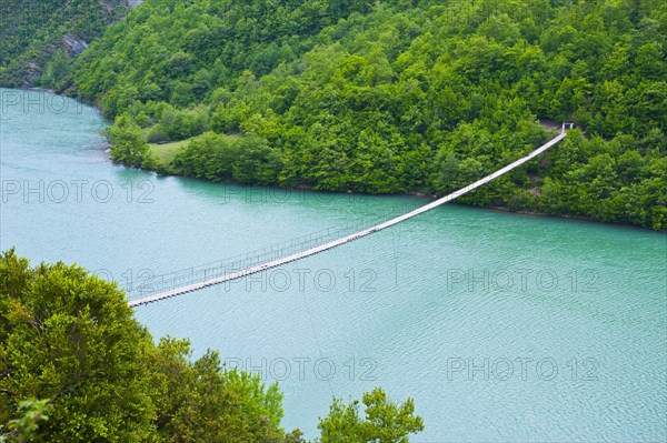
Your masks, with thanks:
<instances>
[{"instance_id":1,"label":"narrow suspension footbridge with its railings, spanning the turquoise water","mask_svg":"<svg viewBox=\"0 0 667 443\"><path fill-rule=\"evenodd\" d=\"M435 200L431 203L425 204L414 211L384 222L371 224L370 228L358 230L359 226L357 225L357 230L351 233L347 233L349 231L346 229L328 230L326 233L319 236L309 235L302 241L286 242L276 246L271 246L270 249L266 249L258 254L248 253L246 255L239 255L238 258L230 259L229 261L216 262L199 269L192 268L185 273L176 272L173 274L153 278L150 279L150 284L145 284L139 288L139 298L131 299L128 304L130 306L140 306L172 296L182 295L188 292L213 286L216 284L226 283L236 279L241 279L246 275L255 274L257 272L281 266L297 260L306 259L308 256L328 251L330 249L370 235L375 232L394 226L395 224L405 222L406 220L430 211L434 208L448 203L472 191L474 189L477 189L482 184L486 184L491 180L506 174L527 161L532 160L552 145L559 143L565 138L567 132L566 125L569 125L569 128L573 127L571 123L563 124L563 129L557 137L530 152L528 155L506 165L502 169L499 169L492 174L487 175L472 184L467 185L466 188L459 189L449 195Z\"/></svg>"}]
</instances>

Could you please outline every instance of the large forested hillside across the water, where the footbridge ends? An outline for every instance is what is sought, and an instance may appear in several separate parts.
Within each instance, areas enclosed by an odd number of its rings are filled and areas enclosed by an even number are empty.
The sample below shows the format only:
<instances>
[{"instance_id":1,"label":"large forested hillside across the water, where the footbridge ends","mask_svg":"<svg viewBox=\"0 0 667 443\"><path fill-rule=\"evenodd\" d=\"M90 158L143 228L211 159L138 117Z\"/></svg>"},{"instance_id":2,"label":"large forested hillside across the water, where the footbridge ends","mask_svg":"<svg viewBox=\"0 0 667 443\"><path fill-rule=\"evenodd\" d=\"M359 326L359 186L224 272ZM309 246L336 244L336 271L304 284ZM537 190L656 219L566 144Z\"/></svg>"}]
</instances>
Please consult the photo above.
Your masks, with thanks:
<instances>
[{"instance_id":1,"label":"large forested hillside across the water, where the footbridge ends","mask_svg":"<svg viewBox=\"0 0 667 443\"><path fill-rule=\"evenodd\" d=\"M666 36L659 0L148 0L60 90L116 161L327 191L442 194L574 121L464 201L665 229Z\"/></svg>"}]
</instances>

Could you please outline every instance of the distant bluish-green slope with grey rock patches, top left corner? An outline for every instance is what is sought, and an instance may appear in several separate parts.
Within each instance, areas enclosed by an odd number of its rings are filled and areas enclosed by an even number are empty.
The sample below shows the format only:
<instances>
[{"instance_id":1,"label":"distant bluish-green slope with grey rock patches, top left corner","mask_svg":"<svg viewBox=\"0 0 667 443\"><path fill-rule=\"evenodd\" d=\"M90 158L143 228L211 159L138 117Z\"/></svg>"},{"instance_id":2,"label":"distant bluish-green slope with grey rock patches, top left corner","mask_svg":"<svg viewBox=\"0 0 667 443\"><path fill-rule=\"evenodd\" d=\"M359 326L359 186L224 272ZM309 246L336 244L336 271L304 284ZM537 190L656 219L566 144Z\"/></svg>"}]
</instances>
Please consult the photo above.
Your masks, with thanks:
<instances>
[{"instance_id":1,"label":"distant bluish-green slope with grey rock patches, top left corner","mask_svg":"<svg viewBox=\"0 0 667 443\"><path fill-rule=\"evenodd\" d=\"M125 17L128 0L2 0L0 85L59 87L70 59Z\"/></svg>"}]
</instances>

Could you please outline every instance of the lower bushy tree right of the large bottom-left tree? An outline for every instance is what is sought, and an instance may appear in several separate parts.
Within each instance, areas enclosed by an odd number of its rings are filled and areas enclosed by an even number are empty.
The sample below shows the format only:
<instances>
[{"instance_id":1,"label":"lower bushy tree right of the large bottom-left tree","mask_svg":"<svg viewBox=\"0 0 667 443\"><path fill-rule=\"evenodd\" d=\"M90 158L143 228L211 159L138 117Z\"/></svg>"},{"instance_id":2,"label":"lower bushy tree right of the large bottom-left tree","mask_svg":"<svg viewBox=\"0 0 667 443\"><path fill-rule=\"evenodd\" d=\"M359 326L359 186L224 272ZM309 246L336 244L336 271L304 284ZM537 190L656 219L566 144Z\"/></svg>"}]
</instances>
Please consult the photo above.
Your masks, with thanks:
<instances>
[{"instance_id":1,"label":"lower bushy tree right of the large bottom-left tree","mask_svg":"<svg viewBox=\"0 0 667 443\"><path fill-rule=\"evenodd\" d=\"M169 442L279 442L282 394L259 375L223 371L218 353L193 363L187 341L162 339L149 354L158 434Z\"/></svg>"}]
</instances>

